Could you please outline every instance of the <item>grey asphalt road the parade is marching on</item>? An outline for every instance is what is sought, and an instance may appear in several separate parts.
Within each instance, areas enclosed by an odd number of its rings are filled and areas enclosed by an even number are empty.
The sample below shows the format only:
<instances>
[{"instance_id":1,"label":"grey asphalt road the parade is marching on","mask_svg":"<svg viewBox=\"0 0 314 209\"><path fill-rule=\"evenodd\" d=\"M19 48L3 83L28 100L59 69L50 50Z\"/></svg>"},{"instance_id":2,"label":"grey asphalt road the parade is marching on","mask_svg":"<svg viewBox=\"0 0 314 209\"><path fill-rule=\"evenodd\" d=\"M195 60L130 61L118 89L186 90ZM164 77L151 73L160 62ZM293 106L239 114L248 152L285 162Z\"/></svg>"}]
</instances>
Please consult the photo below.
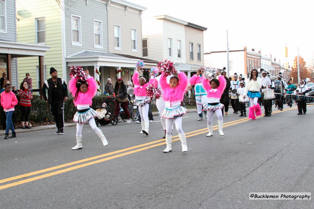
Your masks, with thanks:
<instances>
[{"instance_id":1,"label":"grey asphalt road the parade is marching on","mask_svg":"<svg viewBox=\"0 0 314 209\"><path fill-rule=\"evenodd\" d=\"M250 192L314 194L314 105L307 109L296 115L285 105L255 121L230 110L225 136L212 137L187 113L186 153L176 131L172 152L162 152L158 117L149 136L134 122L102 126L106 147L89 125L76 151L75 127L0 139L0 208L314 208L313 198L249 200Z\"/></svg>"}]
</instances>

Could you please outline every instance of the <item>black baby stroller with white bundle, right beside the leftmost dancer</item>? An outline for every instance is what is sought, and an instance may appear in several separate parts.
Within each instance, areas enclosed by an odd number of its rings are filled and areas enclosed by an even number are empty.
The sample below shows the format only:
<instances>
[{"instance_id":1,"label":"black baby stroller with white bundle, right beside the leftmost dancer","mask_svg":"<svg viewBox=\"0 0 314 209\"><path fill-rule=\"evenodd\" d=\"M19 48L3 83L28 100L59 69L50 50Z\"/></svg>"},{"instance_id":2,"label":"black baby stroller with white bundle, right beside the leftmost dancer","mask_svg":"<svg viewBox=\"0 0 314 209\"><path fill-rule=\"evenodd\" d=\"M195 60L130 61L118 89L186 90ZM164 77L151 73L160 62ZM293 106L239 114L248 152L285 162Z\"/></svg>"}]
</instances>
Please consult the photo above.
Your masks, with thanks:
<instances>
[{"instance_id":1,"label":"black baby stroller with white bundle, right beside the leftmost dancer","mask_svg":"<svg viewBox=\"0 0 314 209\"><path fill-rule=\"evenodd\" d=\"M96 107L96 112L98 112L97 117L95 118L96 125L108 125L111 123L112 125L118 124L118 116L114 114L113 103L115 102L115 98L108 98L102 106ZM109 103L107 105L107 103Z\"/></svg>"}]
</instances>

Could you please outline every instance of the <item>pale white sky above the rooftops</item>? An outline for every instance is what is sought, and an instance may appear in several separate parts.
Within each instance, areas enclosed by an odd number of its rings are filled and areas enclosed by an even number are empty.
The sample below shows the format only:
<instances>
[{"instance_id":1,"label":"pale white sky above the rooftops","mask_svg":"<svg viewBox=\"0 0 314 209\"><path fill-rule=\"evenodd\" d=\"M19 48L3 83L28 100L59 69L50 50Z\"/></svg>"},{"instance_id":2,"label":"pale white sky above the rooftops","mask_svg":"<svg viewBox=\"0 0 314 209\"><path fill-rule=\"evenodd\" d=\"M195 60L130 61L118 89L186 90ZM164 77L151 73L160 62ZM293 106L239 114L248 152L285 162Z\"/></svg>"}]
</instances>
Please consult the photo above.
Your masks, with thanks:
<instances>
[{"instance_id":1,"label":"pale white sky above the rooftops","mask_svg":"<svg viewBox=\"0 0 314 209\"><path fill-rule=\"evenodd\" d=\"M299 54L306 63L314 61L312 0L127 0L147 10L143 16L170 15L207 28L204 52L261 50L276 61L293 65ZM284 48L288 47L288 57Z\"/></svg>"}]
</instances>

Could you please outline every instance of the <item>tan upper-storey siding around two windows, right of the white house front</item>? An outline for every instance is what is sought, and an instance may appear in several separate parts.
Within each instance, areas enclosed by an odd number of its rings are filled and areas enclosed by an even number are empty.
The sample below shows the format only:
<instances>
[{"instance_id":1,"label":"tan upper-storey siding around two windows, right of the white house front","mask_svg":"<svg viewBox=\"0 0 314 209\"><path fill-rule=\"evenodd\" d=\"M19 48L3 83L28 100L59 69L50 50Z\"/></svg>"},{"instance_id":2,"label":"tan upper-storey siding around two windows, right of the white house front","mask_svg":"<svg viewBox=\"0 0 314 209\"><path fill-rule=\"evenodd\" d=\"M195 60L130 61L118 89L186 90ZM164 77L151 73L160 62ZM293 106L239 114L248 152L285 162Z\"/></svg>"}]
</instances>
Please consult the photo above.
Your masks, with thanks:
<instances>
[{"instance_id":1,"label":"tan upper-storey siding around two windows, right of the white house front","mask_svg":"<svg viewBox=\"0 0 314 209\"><path fill-rule=\"evenodd\" d=\"M203 30L185 26L186 60L188 64L204 65ZM190 43L193 43L193 60L190 60ZM197 44L201 45L201 61L197 60Z\"/></svg>"}]
</instances>

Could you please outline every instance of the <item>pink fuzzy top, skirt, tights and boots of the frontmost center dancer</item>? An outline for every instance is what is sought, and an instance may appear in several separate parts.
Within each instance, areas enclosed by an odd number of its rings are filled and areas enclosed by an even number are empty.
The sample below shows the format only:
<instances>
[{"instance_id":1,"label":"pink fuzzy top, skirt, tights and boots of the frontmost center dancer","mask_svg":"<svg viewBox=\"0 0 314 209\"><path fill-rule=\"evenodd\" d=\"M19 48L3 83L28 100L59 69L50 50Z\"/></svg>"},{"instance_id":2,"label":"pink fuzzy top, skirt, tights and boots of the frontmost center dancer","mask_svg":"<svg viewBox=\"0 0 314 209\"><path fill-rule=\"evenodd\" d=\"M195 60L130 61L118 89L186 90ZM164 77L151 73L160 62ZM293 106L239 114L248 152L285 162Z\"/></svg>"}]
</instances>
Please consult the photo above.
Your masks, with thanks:
<instances>
[{"instance_id":1,"label":"pink fuzzy top, skirt, tights and boots of the frontmost center dancer","mask_svg":"<svg viewBox=\"0 0 314 209\"><path fill-rule=\"evenodd\" d=\"M165 109L161 112L161 117L166 118L166 144L164 152L171 152L171 131L173 122L176 124L182 152L187 151L187 139L182 130L182 116L187 112L187 109L181 106L181 101L184 97L187 87L187 76L184 72L177 71L179 83L176 87L171 88L164 77L164 73L160 77L160 86L163 90L163 98L165 101Z\"/></svg>"}]
</instances>

